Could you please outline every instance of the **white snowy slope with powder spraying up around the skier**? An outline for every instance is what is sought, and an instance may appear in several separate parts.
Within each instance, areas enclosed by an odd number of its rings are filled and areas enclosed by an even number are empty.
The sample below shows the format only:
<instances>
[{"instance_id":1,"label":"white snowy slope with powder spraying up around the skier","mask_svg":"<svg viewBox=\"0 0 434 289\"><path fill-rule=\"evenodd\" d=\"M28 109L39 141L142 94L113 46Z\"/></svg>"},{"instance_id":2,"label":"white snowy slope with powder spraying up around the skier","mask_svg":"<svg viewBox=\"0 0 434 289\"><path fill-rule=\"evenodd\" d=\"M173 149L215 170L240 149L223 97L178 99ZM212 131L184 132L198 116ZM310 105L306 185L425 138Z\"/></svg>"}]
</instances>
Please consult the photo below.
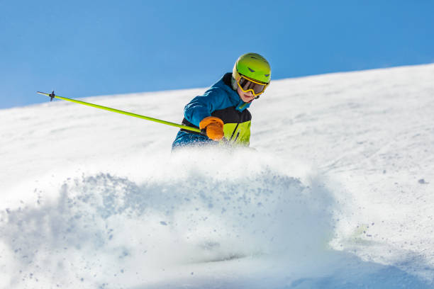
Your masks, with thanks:
<instances>
[{"instance_id":1,"label":"white snowy slope with powder spraying up around the skier","mask_svg":"<svg viewBox=\"0 0 434 289\"><path fill-rule=\"evenodd\" d=\"M0 288L433 288L433 79L273 81L256 151L171 154L176 128L66 101L0 110ZM83 100L180 123L204 90Z\"/></svg>"}]
</instances>

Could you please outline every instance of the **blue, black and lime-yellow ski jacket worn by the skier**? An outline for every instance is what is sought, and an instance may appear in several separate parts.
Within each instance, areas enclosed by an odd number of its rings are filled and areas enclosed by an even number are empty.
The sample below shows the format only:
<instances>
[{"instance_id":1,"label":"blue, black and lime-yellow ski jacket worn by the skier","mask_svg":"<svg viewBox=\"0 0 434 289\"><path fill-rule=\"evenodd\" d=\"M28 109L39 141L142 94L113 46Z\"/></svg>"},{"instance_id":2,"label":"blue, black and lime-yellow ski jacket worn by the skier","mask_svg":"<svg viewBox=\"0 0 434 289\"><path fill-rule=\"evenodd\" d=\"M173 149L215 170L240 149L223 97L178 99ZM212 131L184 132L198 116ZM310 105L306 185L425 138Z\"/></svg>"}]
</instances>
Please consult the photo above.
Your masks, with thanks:
<instances>
[{"instance_id":1,"label":"blue, black and lime-yellow ski jacket worn by the skier","mask_svg":"<svg viewBox=\"0 0 434 289\"><path fill-rule=\"evenodd\" d=\"M208 116L216 116L223 120L225 142L233 145L248 146L250 142L250 120L252 115L247 110L250 103L245 103L231 84L232 74L229 72L213 84L204 95L196 96L184 108L183 125L199 128L201 120ZM189 130L179 130L172 149L190 145L217 145L205 135Z\"/></svg>"}]
</instances>

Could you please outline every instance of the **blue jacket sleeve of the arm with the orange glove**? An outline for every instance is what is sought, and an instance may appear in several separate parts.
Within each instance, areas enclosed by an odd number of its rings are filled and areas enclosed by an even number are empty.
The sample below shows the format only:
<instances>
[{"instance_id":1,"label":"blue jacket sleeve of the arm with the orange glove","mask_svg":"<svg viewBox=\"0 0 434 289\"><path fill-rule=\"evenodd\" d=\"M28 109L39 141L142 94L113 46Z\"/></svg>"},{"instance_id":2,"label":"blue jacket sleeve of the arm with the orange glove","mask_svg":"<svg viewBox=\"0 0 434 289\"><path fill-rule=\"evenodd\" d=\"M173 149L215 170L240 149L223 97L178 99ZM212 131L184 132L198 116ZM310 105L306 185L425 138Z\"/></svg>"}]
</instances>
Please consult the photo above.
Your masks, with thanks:
<instances>
[{"instance_id":1,"label":"blue jacket sleeve of the arm with the orange glove","mask_svg":"<svg viewBox=\"0 0 434 289\"><path fill-rule=\"evenodd\" d=\"M203 96L196 96L184 108L184 118L190 123L199 127L201 120L211 116L213 111L221 109L225 92L218 88L213 88Z\"/></svg>"}]
</instances>

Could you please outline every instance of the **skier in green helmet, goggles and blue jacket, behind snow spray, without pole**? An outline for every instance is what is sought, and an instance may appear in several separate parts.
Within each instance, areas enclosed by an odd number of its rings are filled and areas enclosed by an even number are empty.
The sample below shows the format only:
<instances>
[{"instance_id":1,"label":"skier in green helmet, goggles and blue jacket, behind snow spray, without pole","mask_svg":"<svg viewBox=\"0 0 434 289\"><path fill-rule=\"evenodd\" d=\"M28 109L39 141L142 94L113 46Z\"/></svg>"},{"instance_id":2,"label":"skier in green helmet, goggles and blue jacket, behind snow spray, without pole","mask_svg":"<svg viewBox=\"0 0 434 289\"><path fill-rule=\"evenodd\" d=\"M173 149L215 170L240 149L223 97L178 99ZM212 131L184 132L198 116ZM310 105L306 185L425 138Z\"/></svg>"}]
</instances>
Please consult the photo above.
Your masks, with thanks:
<instances>
[{"instance_id":1,"label":"skier in green helmet, goggles and blue jacket, behind snow spray, without pole","mask_svg":"<svg viewBox=\"0 0 434 289\"><path fill-rule=\"evenodd\" d=\"M202 132L179 130L172 150L218 143L248 147L252 115L247 108L267 89L270 79L271 68L264 57L241 55L232 73L224 74L203 96L196 96L185 106L182 124Z\"/></svg>"}]
</instances>

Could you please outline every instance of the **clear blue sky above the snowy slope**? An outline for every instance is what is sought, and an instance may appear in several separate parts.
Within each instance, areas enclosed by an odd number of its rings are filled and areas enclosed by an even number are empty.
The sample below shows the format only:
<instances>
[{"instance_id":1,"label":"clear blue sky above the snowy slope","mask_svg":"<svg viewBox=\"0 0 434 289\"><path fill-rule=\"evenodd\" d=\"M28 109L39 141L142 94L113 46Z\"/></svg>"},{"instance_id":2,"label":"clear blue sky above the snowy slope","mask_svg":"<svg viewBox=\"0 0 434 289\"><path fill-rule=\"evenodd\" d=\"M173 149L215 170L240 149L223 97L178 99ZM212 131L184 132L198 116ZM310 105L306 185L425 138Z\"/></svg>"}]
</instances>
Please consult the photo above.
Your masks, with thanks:
<instances>
[{"instance_id":1,"label":"clear blue sky above the snowy slope","mask_svg":"<svg viewBox=\"0 0 434 289\"><path fill-rule=\"evenodd\" d=\"M259 52L272 79L434 62L434 1L0 0L0 108L206 87Z\"/></svg>"}]
</instances>

